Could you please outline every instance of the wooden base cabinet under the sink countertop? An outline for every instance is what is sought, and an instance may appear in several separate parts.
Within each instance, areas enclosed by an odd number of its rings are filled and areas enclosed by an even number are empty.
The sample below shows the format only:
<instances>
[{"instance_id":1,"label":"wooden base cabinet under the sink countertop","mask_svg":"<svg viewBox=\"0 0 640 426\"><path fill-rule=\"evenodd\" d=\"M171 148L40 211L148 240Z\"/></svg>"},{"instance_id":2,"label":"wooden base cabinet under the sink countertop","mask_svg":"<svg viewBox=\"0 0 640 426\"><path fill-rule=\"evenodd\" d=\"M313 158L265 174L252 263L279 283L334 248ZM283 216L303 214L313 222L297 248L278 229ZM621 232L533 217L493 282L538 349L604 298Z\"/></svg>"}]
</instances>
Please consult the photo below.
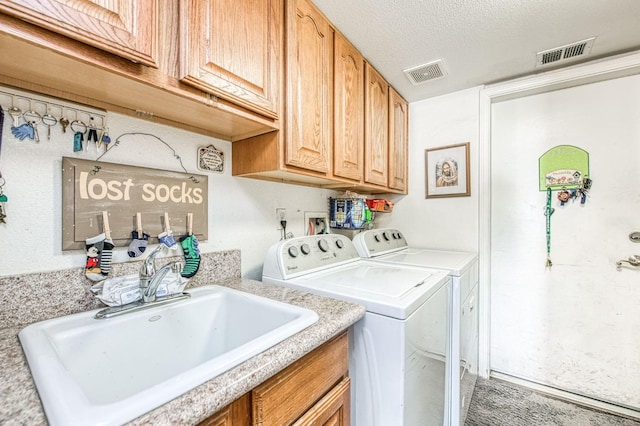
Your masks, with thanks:
<instances>
[{"instance_id":1,"label":"wooden base cabinet under the sink countertop","mask_svg":"<svg viewBox=\"0 0 640 426\"><path fill-rule=\"evenodd\" d=\"M201 426L350 424L347 333L325 343Z\"/></svg>"}]
</instances>

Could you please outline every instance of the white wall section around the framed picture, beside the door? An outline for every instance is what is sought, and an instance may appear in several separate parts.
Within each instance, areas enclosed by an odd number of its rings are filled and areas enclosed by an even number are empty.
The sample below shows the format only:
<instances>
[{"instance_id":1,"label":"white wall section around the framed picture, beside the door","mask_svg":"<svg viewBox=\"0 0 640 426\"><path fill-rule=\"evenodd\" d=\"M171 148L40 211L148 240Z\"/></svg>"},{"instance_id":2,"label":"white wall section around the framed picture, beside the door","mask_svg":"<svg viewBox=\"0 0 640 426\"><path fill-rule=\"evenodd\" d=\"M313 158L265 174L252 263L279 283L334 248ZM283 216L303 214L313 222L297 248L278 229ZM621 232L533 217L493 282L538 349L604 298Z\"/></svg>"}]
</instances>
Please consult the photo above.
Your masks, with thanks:
<instances>
[{"instance_id":1,"label":"white wall section around the framed picture, beside the door","mask_svg":"<svg viewBox=\"0 0 640 426\"><path fill-rule=\"evenodd\" d=\"M376 226L404 231L413 246L478 250L478 96L480 88L409 107L409 194L392 197ZM425 149L470 142L471 196L425 198Z\"/></svg>"}]
</instances>

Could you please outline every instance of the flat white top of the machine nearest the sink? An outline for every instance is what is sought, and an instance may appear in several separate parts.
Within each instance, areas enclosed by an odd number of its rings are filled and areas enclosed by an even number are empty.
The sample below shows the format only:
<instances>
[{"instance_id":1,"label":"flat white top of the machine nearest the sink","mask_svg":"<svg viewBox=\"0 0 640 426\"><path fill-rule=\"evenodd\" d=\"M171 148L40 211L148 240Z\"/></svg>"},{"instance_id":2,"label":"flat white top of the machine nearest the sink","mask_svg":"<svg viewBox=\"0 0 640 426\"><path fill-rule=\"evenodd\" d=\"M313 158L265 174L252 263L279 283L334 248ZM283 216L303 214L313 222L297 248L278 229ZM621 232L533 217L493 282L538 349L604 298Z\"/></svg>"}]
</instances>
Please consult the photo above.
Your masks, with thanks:
<instances>
[{"instance_id":1,"label":"flat white top of the machine nearest the sink","mask_svg":"<svg viewBox=\"0 0 640 426\"><path fill-rule=\"evenodd\" d=\"M283 284L360 303L369 312L405 319L447 282L444 270L362 260Z\"/></svg>"}]
</instances>

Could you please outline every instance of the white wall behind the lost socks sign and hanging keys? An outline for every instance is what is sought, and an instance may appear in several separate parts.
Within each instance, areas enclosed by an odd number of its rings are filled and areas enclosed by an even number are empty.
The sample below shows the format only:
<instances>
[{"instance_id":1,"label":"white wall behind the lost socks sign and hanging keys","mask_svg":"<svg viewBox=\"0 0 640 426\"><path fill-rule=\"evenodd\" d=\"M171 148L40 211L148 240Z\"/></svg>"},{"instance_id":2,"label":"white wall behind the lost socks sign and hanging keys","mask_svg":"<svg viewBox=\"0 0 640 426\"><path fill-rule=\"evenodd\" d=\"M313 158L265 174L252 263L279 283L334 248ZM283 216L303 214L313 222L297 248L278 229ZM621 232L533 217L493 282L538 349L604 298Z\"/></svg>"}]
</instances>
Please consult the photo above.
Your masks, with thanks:
<instances>
[{"instance_id":1,"label":"white wall behind the lost socks sign and hanging keys","mask_svg":"<svg viewBox=\"0 0 640 426\"><path fill-rule=\"evenodd\" d=\"M51 141L19 141L11 133L8 106L3 107L0 172L8 202L7 223L0 224L0 276L84 266L83 251L61 250L61 158L95 160L93 144L86 153L74 153L70 132L63 134L59 126ZM229 142L114 113L107 114L107 122L113 141L127 132L158 136L177 151L189 172L204 173L196 167L198 146L213 144L224 152L224 174L209 174L209 240L200 247L205 253L240 249L247 278L261 277L264 255L280 239L276 207L287 209L287 230L301 236L304 212L327 211L327 198L335 196L333 191L232 177ZM42 126L40 133L46 135ZM182 171L171 151L150 137L127 136L112 150L103 161ZM114 262L128 260L126 248L115 250Z\"/></svg>"}]
</instances>

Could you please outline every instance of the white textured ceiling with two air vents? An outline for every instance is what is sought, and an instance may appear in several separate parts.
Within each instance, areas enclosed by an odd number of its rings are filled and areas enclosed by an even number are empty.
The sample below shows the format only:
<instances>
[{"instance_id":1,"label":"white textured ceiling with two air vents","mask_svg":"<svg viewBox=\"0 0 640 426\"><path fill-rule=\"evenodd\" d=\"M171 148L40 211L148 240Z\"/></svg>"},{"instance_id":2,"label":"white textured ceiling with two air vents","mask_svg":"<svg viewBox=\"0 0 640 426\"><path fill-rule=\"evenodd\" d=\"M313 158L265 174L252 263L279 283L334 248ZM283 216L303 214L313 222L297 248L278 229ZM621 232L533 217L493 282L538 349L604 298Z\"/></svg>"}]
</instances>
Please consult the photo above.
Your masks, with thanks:
<instances>
[{"instance_id":1,"label":"white textured ceiling with two air vents","mask_svg":"<svg viewBox=\"0 0 640 426\"><path fill-rule=\"evenodd\" d=\"M640 49L640 0L312 1L409 102ZM536 68L537 52L590 37L588 56ZM437 59L448 76L403 73Z\"/></svg>"}]
</instances>

